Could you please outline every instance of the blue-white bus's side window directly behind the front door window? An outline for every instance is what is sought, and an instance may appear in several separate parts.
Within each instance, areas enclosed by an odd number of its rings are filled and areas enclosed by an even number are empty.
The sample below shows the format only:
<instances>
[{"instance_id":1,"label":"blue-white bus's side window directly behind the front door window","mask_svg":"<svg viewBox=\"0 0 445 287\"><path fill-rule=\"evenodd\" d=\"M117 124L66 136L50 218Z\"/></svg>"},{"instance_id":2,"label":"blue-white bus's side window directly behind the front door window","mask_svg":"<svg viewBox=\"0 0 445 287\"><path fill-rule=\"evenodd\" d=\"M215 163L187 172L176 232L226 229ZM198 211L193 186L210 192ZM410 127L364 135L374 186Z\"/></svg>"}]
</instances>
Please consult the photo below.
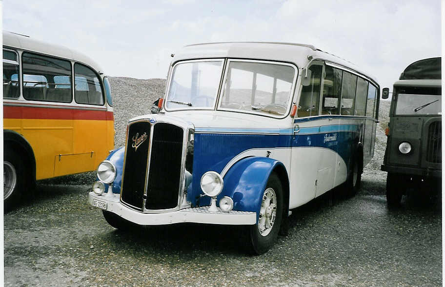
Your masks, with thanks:
<instances>
[{"instance_id":1,"label":"blue-white bus's side window directly behind the front door window","mask_svg":"<svg viewBox=\"0 0 445 287\"><path fill-rule=\"evenodd\" d=\"M326 65L323 84L322 115L338 115L343 71Z\"/></svg>"}]
</instances>

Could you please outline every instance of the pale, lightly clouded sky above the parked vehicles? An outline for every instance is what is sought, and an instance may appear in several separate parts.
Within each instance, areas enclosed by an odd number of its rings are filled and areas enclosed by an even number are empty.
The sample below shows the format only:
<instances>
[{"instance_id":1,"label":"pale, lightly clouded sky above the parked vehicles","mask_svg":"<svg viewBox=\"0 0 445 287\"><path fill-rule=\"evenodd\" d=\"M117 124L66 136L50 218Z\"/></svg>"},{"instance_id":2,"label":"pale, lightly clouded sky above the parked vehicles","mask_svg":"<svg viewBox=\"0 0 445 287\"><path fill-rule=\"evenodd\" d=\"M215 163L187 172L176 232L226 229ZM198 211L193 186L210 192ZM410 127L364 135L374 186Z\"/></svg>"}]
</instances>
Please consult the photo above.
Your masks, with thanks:
<instances>
[{"instance_id":1,"label":"pale, lightly clouded sky above the parked vehicles","mask_svg":"<svg viewBox=\"0 0 445 287\"><path fill-rule=\"evenodd\" d=\"M441 55L440 0L4 0L3 30L67 46L109 76L166 78L170 55L215 41L312 44L391 87ZM391 89L392 90L392 89Z\"/></svg>"}]
</instances>

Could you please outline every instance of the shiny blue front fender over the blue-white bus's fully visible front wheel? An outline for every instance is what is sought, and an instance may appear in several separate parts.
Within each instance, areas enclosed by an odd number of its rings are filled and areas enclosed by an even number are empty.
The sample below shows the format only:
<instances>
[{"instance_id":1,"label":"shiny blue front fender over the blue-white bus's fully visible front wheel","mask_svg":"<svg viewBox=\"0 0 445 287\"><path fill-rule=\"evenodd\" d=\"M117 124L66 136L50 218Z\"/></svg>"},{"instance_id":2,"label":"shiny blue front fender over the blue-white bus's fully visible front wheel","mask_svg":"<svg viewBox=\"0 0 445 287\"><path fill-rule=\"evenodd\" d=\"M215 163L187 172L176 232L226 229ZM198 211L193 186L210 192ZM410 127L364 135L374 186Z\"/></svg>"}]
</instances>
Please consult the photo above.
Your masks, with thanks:
<instances>
[{"instance_id":1,"label":"shiny blue front fender over the blue-white bus's fully visible front wheel","mask_svg":"<svg viewBox=\"0 0 445 287\"><path fill-rule=\"evenodd\" d=\"M218 199L230 196L233 199L233 210L253 211L257 213L257 222L267 180L274 170L283 171L283 195L288 190L288 177L284 165L274 159L265 157L248 157L234 164L224 176L224 187ZM286 201L284 201L286 203ZM287 209L287 206L284 206Z\"/></svg>"}]
</instances>

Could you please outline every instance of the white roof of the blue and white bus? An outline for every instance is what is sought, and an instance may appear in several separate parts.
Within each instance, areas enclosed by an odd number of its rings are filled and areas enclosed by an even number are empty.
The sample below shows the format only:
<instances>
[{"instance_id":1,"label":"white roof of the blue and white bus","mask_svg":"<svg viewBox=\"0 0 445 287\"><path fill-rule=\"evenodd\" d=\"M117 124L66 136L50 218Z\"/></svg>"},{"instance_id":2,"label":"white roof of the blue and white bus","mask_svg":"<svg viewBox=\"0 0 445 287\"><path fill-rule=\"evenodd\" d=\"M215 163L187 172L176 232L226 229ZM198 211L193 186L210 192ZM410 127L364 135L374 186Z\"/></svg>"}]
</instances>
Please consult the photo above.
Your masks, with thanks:
<instances>
[{"instance_id":1,"label":"white roof of the blue and white bus","mask_svg":"<svg viewBox=\"0 0 445 287\"><path fill-rule=\"evenodd\" d=\"M326 60L345 66L365 75L377 83L375 78L357 68L353 63L308 44L283 42L215 42L193 44L184 46L175 54L173 62L204 58L242 58L291 62L299 68L303 68L310 61L308 59L309 55L312 56L312 59Z\"/></svg>"}]
</instances>

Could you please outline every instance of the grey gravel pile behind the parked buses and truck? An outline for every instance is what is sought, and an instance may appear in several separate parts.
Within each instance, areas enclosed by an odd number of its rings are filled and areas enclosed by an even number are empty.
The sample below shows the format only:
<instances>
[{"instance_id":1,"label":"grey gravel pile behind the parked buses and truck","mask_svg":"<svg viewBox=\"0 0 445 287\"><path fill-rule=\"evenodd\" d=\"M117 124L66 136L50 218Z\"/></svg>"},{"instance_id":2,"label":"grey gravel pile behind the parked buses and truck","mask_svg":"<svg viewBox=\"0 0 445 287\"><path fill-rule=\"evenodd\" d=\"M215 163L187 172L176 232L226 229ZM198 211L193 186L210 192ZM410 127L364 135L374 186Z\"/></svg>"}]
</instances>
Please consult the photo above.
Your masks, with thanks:
<instances>
[{"instance_id":1,"label":"grey gravel pile behind the parked buses and truck","mask_svg":"<svg viewBox=\"0 0 445 287\"><path fill-rule=\"evenodd\" d=\"M125 145L125 131L129 119L151 113L153 102L163 97L164 79L133 79L125 77L110 77L111 93L113 95L115 147ZM384 128L389 121L389 101L380 102L380 114L377 125L374 158L364 169L365 180L383 180L386 173L380 170L383 163L386 136ZM377 177L377 178L374 178ZM96 180L95 172L67 175L55 179L42 180L41 184L91 184Z\"/></svg>"}]
</instances>

